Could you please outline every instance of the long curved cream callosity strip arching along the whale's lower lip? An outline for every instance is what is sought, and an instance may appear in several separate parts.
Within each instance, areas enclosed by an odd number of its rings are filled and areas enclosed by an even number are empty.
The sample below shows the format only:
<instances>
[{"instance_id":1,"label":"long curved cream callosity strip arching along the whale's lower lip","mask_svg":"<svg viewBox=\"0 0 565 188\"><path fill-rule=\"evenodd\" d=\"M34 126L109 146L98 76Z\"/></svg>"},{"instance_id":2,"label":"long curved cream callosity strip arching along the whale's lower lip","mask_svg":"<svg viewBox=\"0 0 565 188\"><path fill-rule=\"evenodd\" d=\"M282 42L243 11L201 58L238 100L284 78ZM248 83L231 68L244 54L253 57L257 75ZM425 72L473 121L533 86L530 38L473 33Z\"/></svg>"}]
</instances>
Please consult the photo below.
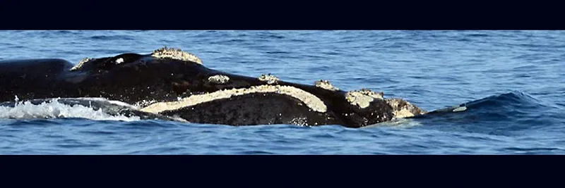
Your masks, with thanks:
<instances>
[{"instance_id":1,"label":"long curved cream callosity strip arching along the whale's lower lip","mask_svg":"<svg viewBox=\"0 0 565 188\"><path fill-rule=\"evenodd\" d=\"M195 94L184 99L179 99L179 101L151 104L150 106L141 109L141 111L150 112L150 113L173 111L179 108L195 106L196 104L206 103L218 99L228 99L232 96L255 94L255 93L285 94L288 96L292 96L296 99L299 99L314 111L324 113L327 110L326 104L324 104L321 99L319 99L314 94L305 92L302 89L298 89L296 87L290 87L290 86L280 86L280 85L259 85L259 86L252 86L250 88L225 89L208 94Z\"/></svg>"}]
</instances>

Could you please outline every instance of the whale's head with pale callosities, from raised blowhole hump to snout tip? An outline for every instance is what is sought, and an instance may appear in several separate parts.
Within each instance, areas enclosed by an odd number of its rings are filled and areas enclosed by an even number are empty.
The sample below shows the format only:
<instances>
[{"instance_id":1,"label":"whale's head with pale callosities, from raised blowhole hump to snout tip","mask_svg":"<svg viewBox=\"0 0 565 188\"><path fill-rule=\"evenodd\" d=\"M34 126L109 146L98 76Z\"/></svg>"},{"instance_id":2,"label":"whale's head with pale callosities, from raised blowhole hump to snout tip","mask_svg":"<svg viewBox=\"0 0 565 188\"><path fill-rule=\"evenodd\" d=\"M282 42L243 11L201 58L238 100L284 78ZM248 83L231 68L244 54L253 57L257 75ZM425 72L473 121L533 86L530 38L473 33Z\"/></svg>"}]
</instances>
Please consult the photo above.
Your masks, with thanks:
<instances>
[{"instance_id":1,"label":"whale's head with pale callosities, from raised blowhole hump to snout tip","mask_svg":"<svg viewBox=\"0 0 565 188\"><path fill-rule=\"evenodd\" d=\"M328 80L305 85L273 75L223 73L206 68L194 54L166 47L150 54L85 58L67 77L79 86L80 96L123 101L145 112L201 123L288 123L308 117L304 122L313 125L364 127L425 113L403 99L385 99L369 89L345 92Z\"/></svg>"}]
</instances>

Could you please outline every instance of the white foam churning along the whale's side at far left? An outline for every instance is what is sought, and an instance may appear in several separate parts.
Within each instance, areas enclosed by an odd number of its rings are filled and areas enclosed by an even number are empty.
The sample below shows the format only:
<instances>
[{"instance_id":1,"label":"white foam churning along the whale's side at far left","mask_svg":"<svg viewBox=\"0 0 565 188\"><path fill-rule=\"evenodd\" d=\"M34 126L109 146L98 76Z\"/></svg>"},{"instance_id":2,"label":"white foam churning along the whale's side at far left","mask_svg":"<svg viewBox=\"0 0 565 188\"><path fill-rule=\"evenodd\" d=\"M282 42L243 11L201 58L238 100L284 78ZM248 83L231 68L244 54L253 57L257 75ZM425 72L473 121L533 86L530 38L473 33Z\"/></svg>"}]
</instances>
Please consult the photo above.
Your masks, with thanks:
<instances>
[{"instance_id":1,"label":"white foam churning along the whale's side at far left","mask_svg":"<svg viewBox=\"0 0 565 188\"><path fill-rule=\"evenodd\" d=\"M18 102L14 107L0 106L0 118L86 118L90 120L141 120L137 116L126 117L124 115L109 115L102 109L94 110L88 106L61 104L57 99L31 104L30 101Z\"/></svg>"}]
</instances>

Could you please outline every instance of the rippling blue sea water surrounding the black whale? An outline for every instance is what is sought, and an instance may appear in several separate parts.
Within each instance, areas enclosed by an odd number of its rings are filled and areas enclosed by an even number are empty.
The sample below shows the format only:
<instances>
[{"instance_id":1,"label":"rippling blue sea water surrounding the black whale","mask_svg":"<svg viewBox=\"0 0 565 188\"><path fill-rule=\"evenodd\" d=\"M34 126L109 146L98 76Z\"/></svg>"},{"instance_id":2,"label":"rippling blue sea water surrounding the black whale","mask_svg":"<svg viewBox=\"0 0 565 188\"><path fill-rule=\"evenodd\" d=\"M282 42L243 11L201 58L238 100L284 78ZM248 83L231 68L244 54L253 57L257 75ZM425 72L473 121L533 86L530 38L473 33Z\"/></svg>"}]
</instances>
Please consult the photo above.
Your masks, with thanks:
<instances>
[{"instance_id":1,"label":"rippling blue sea water surrounding the black whale","mask_svg":"<svg viewBox=\"0 0 565 188\"><path fill-rule=\"evenodd\" d=\"M2 31L0 59L150 53L460 113L351 129L136 120L64 106L0 108L1 154L564 154L562 31ZM25 118L57 111L77 118Z\"/></svg>"}]
</instances>

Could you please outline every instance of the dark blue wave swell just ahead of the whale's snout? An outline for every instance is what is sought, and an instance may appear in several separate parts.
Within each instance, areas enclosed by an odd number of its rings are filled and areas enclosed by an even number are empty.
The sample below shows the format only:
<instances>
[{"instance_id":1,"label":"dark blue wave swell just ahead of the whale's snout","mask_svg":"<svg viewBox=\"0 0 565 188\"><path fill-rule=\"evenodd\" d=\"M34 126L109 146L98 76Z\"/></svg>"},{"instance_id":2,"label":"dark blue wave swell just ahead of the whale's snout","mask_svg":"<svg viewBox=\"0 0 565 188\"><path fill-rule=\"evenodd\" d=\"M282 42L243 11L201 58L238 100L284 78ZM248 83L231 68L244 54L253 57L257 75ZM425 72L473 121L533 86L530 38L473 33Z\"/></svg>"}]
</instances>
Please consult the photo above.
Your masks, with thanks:
<instances>
[{"instance_id":1,"label":"dark blue wave swell just ahead of the whale's snout","mask_svg":"<svg viewBox=\"0 0 565 188\"><path fill-rule=\"evenodd\" d=\"M516 91L442 108L415 118L423 119L426 127L432 125L442 130L513 135L552 127L561 111L551 101Z\"/></svg>"}]
</instances>

